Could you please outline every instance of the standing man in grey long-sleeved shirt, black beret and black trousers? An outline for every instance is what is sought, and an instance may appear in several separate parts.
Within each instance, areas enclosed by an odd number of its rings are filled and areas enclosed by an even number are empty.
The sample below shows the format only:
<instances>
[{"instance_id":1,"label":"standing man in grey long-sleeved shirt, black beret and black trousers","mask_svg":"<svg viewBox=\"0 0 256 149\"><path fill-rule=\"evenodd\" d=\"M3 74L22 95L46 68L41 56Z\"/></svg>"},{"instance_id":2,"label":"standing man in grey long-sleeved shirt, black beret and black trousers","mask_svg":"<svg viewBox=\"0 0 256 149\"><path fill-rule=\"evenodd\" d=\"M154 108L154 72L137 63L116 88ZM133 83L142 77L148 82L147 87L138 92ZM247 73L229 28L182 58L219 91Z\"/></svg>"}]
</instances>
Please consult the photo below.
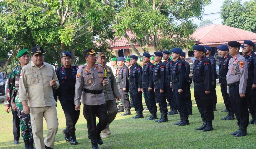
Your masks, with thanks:
<instances>
[{"instance_id":1,"label":"standing man in grey long-sleeved shirt, black beret and black trousers","mask_svg":"<svg viewBox=\"0 0 256 149\"><path fill-rule=\"evenodd\" d=\"M246 59L239 54L241 44L237 41L230 41L229 54L232 58L229 60L229 70L227 73L227 83L234 113L236 115L237 124L239 129L230 135L236 137L246 136L246 128L249 122L249 113L247 109L245 97L245 90L248 78L248 69Z\"/></svg>"}]
</instances>

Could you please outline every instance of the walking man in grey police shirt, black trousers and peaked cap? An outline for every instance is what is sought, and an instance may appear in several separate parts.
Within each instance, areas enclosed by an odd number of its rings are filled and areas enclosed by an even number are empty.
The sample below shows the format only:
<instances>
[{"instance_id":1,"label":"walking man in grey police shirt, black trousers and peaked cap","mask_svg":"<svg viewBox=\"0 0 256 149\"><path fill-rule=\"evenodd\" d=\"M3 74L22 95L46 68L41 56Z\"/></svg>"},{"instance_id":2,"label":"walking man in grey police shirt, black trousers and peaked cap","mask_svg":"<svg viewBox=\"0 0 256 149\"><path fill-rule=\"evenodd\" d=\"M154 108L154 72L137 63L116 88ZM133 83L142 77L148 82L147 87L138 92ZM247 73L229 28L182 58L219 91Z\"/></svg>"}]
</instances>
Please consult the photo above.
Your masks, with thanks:
<instances>
[{"instance_id":1,"label":"walking man in grey police shirt, black trousers and peaked cap","mask_svg":"<svg viewBox=\"0 0 256 149\"><path fill-rule=\"evenodd\" d=\"M97 52L92 48L83 51L87 64L77 70L75 109L80 110L80 104L84 104L83 115L87 121L88 138L91 139L92 148L98 149L98 144L103 144L100 133L108 123L103 87L108 85L109 80L106 69L95 64L95 54ZM99 118L97 126L95 115Z\"/></svg>"}]
</instances>

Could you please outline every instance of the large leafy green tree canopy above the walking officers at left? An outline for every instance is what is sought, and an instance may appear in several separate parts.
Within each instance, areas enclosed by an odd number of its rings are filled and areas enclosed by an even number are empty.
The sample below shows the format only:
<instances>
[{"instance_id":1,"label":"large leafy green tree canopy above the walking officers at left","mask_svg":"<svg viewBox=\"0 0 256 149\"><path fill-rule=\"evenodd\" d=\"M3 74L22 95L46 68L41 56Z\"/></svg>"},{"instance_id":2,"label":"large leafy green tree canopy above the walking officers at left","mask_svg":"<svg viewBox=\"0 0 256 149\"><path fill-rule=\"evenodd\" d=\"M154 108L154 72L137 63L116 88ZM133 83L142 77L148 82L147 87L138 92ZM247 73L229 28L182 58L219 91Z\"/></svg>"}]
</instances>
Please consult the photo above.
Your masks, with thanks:
<instances>
[{"instance_id":1,"label":"large leafy green tree canopy above the walking officers at left","mask_svg":"<svg viewBox=\"0 0 256 149\"><path fill-rule=\"evenodd\" d=\"M112 38L114 16L114 2L107 0L3 0L1 49L13 52L39 45L45 49L45 61L58 65L59 53L69 51L74 64L83 61L82 51L86 48L110 50L105 41Z\"/></svg>"}]
</instances>

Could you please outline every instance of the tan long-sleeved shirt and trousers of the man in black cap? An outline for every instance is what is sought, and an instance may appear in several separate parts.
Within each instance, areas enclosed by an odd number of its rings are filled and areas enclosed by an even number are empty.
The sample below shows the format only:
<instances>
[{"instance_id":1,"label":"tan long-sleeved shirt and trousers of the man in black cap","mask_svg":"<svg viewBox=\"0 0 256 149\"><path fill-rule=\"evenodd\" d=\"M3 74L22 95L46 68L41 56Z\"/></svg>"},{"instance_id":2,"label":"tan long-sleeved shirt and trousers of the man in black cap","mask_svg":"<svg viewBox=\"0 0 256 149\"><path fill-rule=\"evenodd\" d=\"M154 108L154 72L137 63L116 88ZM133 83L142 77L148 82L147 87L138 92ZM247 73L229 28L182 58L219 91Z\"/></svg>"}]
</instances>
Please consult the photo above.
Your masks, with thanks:
<instances>
[{"instance_id":1,"label":"tan long-sleeved shirt and trousers of the man in black cap","mask_svg":"<svg viewBox=\"0 0 256 149\"><path fill-rule=\"evenodd\" d=\"M52 92L54 87L50 86L52 79L55 79L57 84L55 89L58 88L59 82L53 66L45 62L39 68L31 61L22 68L20 74L19 95L22 101L28 100L33 138L35 147L38 149L45 148L45 145L53 148L58 131L56 101ZM43 137L43 117L48 128L45 139Z\"/></svg>"}]
</instances>

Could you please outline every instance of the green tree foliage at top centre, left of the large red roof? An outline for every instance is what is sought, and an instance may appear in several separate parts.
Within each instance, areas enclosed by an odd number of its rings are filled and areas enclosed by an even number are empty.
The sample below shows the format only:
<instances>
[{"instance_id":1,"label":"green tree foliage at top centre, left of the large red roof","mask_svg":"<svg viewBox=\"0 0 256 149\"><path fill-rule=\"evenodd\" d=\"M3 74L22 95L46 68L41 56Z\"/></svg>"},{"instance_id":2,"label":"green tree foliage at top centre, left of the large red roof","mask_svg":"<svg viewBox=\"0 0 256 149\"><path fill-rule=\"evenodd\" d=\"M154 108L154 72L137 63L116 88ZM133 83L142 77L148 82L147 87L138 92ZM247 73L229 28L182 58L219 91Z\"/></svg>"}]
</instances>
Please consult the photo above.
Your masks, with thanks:
<instances>
[{"instance_id":1,"label":"green tree foliage at top centre, left of the large red roof","mask_svg":"<svg viewBox=\"0 0 256 149\"><path fill-rule=\"evenodd\" d=\"M155 51L170 50L172 47L191 48L194 39L190 39L196 25L190 20L201 19L203 7L210 0L123 0L120 12L112 28L115 35L124 36L138 56L140 53L134 44L144 52L153 45ZM135 38L130 38L130 30Z\"/></svg>"}]
</instances>

